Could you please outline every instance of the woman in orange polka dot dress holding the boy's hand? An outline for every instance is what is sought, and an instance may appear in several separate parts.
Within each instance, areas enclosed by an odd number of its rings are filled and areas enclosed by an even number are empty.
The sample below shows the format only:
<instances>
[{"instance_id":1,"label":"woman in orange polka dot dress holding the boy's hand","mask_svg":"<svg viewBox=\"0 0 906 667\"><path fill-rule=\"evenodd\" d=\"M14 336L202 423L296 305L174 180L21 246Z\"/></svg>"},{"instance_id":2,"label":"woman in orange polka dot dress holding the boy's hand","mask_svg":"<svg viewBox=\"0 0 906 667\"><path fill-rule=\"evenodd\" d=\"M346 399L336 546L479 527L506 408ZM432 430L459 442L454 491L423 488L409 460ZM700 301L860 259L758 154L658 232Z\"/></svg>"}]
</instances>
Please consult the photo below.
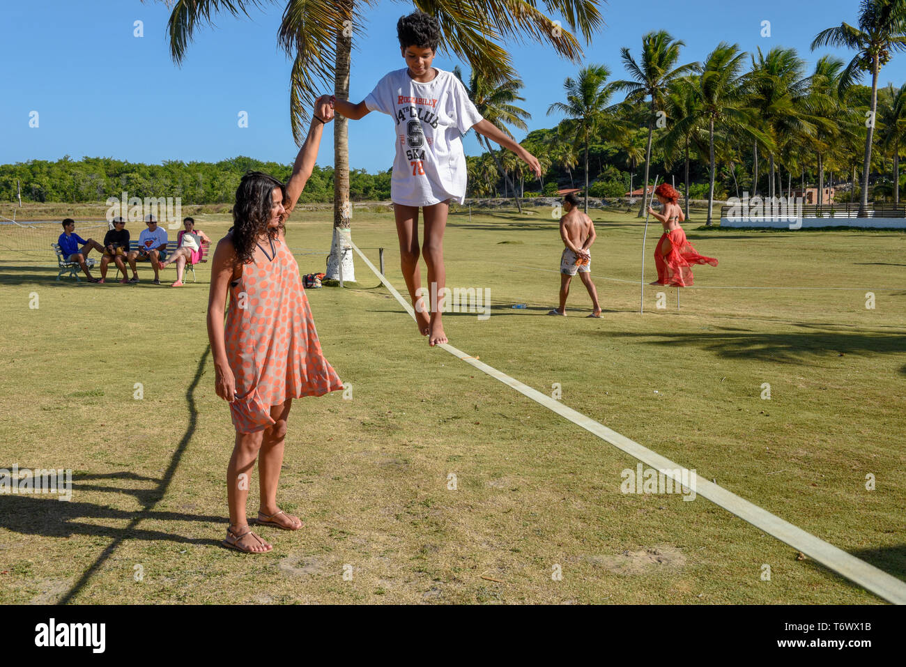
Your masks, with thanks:
<instances>
[{"instance_id":1,"label":"woman in orange polka dot dress holding the boy's hand","mask_svg":"<svg viewBox=\"0 0 906 667\"><path fill-rule=\"evenodd\" d=\"M286 420L294 398L342 389L324 359L299 266L286 247L289 217L312 174L329 98L315 102L312 126L284 184L258 171L236 189L234 226L217 243L211 266L207 334L217 396L229 401L236 444L226 469L230 526L224 546L261 554L273 546L248 527L248 481L259 458L261 505L256 523L298 530L302 521L276 504ZM224 324L224 302L229 295Z\"/></svg>"}]
</instances>

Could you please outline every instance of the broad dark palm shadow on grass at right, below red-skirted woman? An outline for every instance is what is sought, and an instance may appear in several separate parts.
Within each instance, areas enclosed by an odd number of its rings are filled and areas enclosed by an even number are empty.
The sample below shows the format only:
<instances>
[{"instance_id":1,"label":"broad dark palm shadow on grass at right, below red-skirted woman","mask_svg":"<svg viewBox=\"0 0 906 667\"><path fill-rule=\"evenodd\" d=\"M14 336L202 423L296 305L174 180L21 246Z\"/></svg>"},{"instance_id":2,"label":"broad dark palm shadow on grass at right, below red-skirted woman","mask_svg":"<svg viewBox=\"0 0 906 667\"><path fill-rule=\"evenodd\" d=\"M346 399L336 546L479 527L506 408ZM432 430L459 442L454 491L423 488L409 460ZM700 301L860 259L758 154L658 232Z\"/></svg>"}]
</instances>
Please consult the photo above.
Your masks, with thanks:
<instances>
[{"instance_id":1,"label":"broad dark palm shadow on grass at right, below red-skirted woman","mask_svg":"<svg viewBox=\"0 0 906 667\"><path fill-rule=\"evenodd\" d=\"M814 325L801 325L813 328ZM652 345L694 347L727 359L765 362L803 362L808 357L833 357L859 353L902 353L906 335L881 332L801 331L788 333L725 330L723 333L620 333L612 338L653 338Z\"/></svg>"}]
</instances>

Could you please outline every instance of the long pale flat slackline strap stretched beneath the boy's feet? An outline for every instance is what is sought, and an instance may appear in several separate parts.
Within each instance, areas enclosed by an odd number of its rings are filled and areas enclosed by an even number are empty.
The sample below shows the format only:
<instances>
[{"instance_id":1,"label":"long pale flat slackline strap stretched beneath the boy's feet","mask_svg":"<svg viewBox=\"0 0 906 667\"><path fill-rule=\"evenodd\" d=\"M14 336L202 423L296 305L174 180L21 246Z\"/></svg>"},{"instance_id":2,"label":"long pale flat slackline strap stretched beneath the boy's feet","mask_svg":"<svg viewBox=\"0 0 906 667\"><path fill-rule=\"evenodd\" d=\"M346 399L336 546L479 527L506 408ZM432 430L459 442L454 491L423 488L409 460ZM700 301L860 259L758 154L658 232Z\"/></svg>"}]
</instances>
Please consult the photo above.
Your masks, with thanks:
<instances>
[{"instance_id":1,"label":"long pale flat slackline strap stretched beneath the boy's feet","mask_svg":"<svg viewBox=\"0 0 906 667\"><path fill-rule=\"evenodd\" d=\"M352 249L358 253L362 261L368 265L372 272L374 272L374 275L378 276L381 283L390 290L390 294L396 297L396 300L400 302L400 305L406 309L406 312L409 313L410 317L414 320L415 312L412 310L412 306L403 299L396 287L390 285L390 282L381 275L373 264L371 264L371 260L364 256L361 250L356 247L352 241L350 242L350 245L352 246ZM469 356L452 345L440 343L438 347L446 350L453 356L458 357L458 359L461 359L470 366L477 368L477 370L490 375L495 380L499 380L516 391L525 394L525 396L532 399L532 401L545 406L545 408L550 411L556 412L564 419L572 421L573 424L581 426L584 430L609 442L617 449L629 454L632 458L640 460L642 463L647 464L653 469L663 471L667 477L673 479L677 484L681 483L683 474L689 475L689 477L686 478L686 481L689 481L689 478L695 478L695 491L699 496L708 498L708 500L718 507L723 507L731 514L734 514L753 526L765 531L768 535L775 536L781 542L785 542L787 545L794 547L806 556L813 558L818 563L834 570L838 575L842 575L856 584L863 586L866 590L871 591L873 594L882 597L888 602L892 602L893 604L906 604L906 583L901 582L901 580L895 576L888 575L874 565L869 565L860 558L847 554L843 549L824 542L823 539L819 539L811 533L805 532L802 528L795 527L788 521L771 514L766 509L762 509L761 507L750 503L745 498L740 498L735 493L731 493L726 488L718 487L718 485L713 482L698 478L691 471L684 469L670 459L660 456L656 451L642 447L638 442L630 440L626 436L617 433L615 430L608 429L603 424L590 417L586 417L582 412L575 411L572 408L565 406L560 401L554 401L550 396L541 393L541 391L532 389L515 378L511 378L509 375L498 371L493 366L488 366L487 363L479 362L475 357ZM678 471L680 473L679 478L676 476Z\"/></svg>"}]
</instances>

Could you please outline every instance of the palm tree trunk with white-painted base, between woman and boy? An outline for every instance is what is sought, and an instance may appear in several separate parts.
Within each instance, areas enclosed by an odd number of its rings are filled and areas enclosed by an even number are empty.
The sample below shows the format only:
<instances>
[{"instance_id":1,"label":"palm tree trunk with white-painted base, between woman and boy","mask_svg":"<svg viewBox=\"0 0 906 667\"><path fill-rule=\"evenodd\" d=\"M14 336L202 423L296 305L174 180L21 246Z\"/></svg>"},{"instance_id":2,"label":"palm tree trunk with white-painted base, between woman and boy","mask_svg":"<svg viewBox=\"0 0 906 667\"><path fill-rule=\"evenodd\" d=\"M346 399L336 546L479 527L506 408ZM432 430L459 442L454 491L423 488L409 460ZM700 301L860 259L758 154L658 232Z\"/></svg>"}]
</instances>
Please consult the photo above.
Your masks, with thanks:
<instances>
[{"instance_id":1,"label":"palm tree trunk with white-painted base, between woman and boy","mask_svg":"<svg viewBox=\"0 0 906 667\"><path fill-rule=\"evenodd\" d=\"M338 0L340 11L352 20L354 0ZM352 53L352 34L340 30L336 37L336 58L333 72L333 94L349 99L349 65ZM349 121L338 115L333 121L333 241L327 257L325 277L339 280L342 263L343 280L354 281L352 252L344 251L351 238L352 204L349 201Z\"/></svg>"}]
</instances>

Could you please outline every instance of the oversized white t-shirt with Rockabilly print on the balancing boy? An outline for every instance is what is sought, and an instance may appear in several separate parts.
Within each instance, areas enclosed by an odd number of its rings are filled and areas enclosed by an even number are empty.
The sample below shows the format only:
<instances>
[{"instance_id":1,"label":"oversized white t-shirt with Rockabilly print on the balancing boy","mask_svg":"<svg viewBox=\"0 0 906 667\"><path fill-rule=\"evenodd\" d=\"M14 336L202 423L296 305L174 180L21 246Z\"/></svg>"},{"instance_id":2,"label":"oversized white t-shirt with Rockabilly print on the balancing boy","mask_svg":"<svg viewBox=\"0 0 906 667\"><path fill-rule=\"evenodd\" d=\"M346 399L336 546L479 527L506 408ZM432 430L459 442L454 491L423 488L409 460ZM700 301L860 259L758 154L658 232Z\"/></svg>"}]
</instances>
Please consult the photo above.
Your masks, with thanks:
<instances>
[{"instance_id":1,"label":"oversized white t-shirt with Rockabilly print on the balancing boy","mask_svg":"<svg viewBox=\"0 0 906 667\"><path fill-rule=\"evenodd\" d=\"M365 98L370 111L387 113L395 123L395 204L430 206L449 198L461 204L466 198L462 135L482 118L456 75L437 72L427 83L412 79L408 68L391 72Z\"/></svg>"}]
</instances>

